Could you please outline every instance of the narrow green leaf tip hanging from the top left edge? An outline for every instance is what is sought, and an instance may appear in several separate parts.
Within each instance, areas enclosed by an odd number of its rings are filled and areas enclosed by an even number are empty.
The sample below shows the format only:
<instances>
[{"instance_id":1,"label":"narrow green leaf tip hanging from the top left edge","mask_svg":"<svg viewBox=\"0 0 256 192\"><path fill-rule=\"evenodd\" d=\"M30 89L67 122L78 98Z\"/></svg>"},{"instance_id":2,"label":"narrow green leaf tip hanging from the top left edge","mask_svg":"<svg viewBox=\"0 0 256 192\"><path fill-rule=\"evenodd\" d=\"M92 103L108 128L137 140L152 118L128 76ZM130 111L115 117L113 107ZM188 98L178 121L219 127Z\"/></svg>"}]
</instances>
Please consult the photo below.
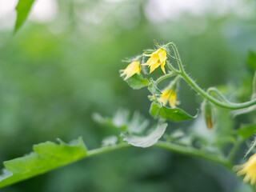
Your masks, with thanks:
<instances>
[{"instance_id":1,"label":"narrow green leaf tip hanging from the top left edge","mask_svg":"<svg viewBox=\"0 0 256 192\"><path fill-rule=\"evenodd\" d=\"M14 33L22 26L22 23L25 22L28 14L30 13L31 7L34 3L34 0L19 0L18 5L16 6L17 10L17 19L15 23Z\"/></svg>"}]
</instances>

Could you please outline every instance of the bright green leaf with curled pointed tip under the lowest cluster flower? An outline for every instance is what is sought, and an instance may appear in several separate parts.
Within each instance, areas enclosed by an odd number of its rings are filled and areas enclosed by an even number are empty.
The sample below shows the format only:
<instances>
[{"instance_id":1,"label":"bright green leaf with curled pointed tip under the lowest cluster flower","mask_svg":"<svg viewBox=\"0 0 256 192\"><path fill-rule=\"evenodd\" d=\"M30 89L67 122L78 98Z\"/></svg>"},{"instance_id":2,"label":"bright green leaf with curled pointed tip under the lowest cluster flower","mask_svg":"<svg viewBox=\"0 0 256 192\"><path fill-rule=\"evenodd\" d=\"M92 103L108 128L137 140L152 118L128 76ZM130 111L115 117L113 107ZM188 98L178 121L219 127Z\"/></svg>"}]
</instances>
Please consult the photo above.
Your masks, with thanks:
<instances>
[{"instance_id":1,"label":"bright green leaf with curled pointed tip under the lowest cluster flower","mask_svg":"<svg viewBox=\"0 0 256 192\"><path fill-rule=\"evenodd\" d=\"M158 115L162 118L167 118L173 122L182 122L191 118L196 118L198 114L191 116L187 114L184 110L179 108L169 108L166 106L159 106L157 103L152 102L150 106L150 114L157 118Z\"/></svg>"}]
</instances>

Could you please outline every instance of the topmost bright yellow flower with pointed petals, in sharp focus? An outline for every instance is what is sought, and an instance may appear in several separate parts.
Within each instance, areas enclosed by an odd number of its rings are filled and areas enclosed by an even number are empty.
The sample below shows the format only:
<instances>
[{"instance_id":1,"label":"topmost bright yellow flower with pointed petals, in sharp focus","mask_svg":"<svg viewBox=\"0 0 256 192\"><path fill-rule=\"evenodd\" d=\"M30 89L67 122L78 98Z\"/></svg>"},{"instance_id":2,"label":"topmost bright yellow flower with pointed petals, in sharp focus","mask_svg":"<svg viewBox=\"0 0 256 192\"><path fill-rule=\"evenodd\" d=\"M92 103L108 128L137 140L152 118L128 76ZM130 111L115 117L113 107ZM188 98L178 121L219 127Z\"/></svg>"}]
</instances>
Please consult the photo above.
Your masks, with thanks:
<instances>
[{"instance_id":1,"label":"topmost bright yellow flower with pointed petals, in sharp focus","mask_svg":"<svg viewBox=\"0 0 256 192\"><path fill-rule=\"evenodd\" d=\"M149 60L146 63L142 64L144 66L150 67L150 73L152 73L158 66L161 66L161 69L164 74L166 74L165 65L166 65L166 50L158 49L153 54L144 54L145 56L149 56Z\"/></svg>"}]
</instances>

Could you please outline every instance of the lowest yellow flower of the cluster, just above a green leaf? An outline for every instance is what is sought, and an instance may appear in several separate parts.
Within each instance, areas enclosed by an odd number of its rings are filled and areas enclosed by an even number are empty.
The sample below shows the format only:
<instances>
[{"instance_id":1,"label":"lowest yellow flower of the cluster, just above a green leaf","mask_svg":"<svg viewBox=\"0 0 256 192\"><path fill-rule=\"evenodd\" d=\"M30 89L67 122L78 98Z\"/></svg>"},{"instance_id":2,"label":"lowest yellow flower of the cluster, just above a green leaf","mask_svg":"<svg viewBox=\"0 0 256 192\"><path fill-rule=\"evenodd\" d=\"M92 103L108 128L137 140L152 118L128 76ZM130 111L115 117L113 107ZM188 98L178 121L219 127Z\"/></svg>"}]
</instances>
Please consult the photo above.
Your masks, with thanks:
<instances>
[{"instance_id":1,"label":"lowest yellow flower of the cluster, just above a green leaf","mask_svg":"<svg viewBox=\"0 0 256 192\"><path fill-rule=\"evenodd\" d=\"M177 97L175 90L163 90L161 96L158 98L158 102L162 102L163 106L166 106L168 101L172 108L176 107Z\"/></svg>"}]
</instances>

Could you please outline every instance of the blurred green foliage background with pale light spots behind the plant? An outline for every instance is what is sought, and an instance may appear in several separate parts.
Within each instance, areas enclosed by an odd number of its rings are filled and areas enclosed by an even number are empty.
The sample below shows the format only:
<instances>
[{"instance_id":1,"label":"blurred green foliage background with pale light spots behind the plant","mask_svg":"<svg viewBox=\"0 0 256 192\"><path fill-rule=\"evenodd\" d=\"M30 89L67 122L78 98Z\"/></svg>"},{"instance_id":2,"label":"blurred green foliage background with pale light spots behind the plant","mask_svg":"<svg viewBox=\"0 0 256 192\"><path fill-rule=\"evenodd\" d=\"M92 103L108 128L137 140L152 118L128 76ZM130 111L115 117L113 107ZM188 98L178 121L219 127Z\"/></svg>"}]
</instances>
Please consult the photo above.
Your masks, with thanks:
<instances>
[{"instance_id":1,"label":"blurred green foliage background with pale light spots behind the plant","mask_svg":"<svg viewBox=\"0 0 256 192\"><path fill-rule=\"evenodd\" d=\"M186 71L203 88L233 85L239 95L238 87L245 86L250 94L253 73L246 62L248 51L256 51L254 0L38 0L12 37L15 3L0 1L0 162L56 138L68 142L82 135L89 149L99 147L111 130L98 126L93 112L110 116L122 107L150 118L148 91L130 89L118 70L126 67L123 58L153 48L153 39L175 42ZM184 82L178 99L190 114L200 107ZM250 191L246 187L213 163L132 148L1 191Z\"/></svg>"}]
</instances>

